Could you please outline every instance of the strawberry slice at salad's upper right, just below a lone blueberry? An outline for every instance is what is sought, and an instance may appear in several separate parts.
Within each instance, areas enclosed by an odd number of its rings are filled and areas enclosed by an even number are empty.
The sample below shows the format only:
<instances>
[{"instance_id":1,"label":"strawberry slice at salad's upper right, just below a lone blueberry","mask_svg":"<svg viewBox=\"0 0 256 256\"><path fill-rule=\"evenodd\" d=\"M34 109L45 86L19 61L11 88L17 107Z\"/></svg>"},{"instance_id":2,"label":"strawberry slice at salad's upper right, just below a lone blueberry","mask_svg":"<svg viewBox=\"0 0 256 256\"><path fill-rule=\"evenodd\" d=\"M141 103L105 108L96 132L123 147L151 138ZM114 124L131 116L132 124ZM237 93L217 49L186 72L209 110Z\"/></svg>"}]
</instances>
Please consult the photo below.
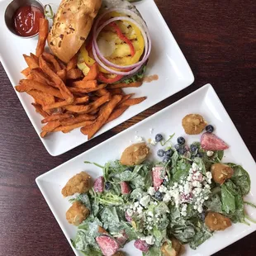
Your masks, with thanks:
<instances>
[{"instance_id":1,"label":"strawberry slice at salad's upper right, just below a lone blueberry","mask_svg":"<svg viewBox=\"0 0 256 256\"><path fill-rule=\"evenodd\" d=\"M206 132L201 135L201 148L205 150L224 150L229 146L216 135Z\"/></svg>"}]
</instances>

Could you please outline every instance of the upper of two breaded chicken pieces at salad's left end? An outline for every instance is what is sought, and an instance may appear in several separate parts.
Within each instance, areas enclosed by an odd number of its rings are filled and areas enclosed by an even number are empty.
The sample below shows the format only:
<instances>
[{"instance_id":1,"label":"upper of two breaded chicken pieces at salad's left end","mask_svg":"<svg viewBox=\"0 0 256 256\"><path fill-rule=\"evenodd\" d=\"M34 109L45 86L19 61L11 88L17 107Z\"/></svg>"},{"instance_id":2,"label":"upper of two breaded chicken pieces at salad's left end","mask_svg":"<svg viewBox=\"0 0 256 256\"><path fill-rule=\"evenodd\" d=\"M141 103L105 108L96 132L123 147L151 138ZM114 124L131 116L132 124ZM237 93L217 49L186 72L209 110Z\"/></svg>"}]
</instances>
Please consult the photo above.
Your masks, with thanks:
<instances>
[{"instance_id":1,"label":"upper of two breaded chicken pieces at salad's left end","mask_svg":"<svg viewBox=\"0 0 256 256\"><path fill-rule=\"evenodd\" d=\"M75 193L85 193L92 187L92 178L86 172L81 172L69 179L68 183L62 189L64 197L73 196Z\"/></svg>"}]
</instances>

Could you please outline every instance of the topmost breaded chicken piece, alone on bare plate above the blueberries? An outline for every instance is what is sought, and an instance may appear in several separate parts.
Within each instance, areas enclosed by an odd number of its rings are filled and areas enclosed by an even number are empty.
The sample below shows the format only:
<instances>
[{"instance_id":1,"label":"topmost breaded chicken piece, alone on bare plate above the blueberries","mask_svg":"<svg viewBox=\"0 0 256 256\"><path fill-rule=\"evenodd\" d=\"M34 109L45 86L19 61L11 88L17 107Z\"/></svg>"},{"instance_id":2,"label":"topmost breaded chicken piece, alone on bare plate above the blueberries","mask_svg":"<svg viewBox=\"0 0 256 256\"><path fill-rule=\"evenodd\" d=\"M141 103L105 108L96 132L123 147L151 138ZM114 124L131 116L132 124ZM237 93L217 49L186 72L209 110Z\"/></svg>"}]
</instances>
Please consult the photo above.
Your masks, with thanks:
<instances>
[{"instance_id":1,"label":"topmost breaded chicken piece, alone on bare plate above the blueberries","mask_svg":"<svg viewBox=\"0 0 256 256\"><path fill-rule=\"evenodd\" d=\"M189 114L183 118L183 128L187 135L201 134L206 125L207 122L198 114Z\"/></svg>"}]
</instances>

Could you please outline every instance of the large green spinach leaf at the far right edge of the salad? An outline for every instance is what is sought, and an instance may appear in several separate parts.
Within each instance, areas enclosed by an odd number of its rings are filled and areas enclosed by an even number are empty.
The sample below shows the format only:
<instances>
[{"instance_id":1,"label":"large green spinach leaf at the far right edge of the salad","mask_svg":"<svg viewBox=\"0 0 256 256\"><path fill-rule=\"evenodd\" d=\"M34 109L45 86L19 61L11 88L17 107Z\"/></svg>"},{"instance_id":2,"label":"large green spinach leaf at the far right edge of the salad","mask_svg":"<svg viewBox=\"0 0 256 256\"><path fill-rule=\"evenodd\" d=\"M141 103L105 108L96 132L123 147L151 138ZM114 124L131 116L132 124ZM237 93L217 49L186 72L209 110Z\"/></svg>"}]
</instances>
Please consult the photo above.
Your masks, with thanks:
<instances>
[{"instance_id":1,"label":"large green spinach leaf at the far right edge of the salad","mask_svg":"<svg viewBox=\"0 0 256 256\"><path fill-rule=\"evenodd\" d=\"M230 178L231 181L239 187L242 196L247 195L251 188L249 173L247 173L240 165L232 163L229 163L228 165L234 169L234 175Z\"/></svg>"}]
</instances>

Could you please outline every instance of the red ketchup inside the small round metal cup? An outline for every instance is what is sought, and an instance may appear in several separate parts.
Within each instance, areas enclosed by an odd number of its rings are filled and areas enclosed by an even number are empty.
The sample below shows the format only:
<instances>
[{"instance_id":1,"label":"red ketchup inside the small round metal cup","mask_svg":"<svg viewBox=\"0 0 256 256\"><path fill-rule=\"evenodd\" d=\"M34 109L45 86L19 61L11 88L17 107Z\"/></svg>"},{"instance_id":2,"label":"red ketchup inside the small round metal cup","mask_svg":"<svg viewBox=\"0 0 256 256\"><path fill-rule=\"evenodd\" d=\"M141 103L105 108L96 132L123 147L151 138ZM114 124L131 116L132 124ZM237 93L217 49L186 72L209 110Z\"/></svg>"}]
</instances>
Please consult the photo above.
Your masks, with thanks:
<instances>
[{"instance_id":1,"label":"red ketchup inside the small round metal cup","mask_svg":"<svg viewBox=\"0 0 256 256\"><path fill-rule=\"evenodd\" d=\"M39 31L39 20L44 14L34 6L19 7L13 15L14 28L20 36L34 36Z\"/></svg>"}]
</instances>

